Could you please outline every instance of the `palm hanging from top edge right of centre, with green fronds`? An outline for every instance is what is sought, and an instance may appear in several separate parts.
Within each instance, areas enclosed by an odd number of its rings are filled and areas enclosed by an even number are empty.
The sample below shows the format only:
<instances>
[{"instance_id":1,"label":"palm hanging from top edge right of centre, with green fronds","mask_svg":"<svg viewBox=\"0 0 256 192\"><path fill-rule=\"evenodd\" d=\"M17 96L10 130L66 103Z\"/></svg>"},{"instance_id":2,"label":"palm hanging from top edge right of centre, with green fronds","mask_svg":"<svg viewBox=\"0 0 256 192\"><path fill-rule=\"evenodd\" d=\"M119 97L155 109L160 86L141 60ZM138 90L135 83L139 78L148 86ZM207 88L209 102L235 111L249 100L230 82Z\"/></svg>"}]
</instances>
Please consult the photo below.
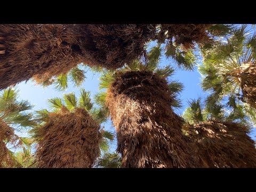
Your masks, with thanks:
<instances>
[{"instance_id":1,"label":"palm hanging from top edge right of centre, with green fronds","mask_svg":"<svg viewBox=\"0 0 256 192\"><path fill-rule=\"evenodd\" d=\"M162 24L157 26L158 45L154 49L164 51L166 58L179 68L194 70L199 60L198 46L211 46L233 28L234 25L227 24Z\"/></svg>"}]
</instances>

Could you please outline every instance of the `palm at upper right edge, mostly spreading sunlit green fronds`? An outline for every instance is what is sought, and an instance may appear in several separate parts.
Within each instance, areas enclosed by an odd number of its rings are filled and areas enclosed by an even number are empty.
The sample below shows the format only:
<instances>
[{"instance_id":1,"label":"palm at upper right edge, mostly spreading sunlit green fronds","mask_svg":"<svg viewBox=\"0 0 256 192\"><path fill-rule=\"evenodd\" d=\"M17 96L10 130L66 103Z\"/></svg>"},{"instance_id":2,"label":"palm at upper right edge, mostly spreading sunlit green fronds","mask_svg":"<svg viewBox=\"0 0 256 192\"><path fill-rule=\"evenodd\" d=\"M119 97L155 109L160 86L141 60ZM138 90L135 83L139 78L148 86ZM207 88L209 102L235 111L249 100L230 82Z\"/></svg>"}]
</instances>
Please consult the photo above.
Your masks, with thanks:
<instances>
[{"instance_id":1,"label":"palm at upper right edge, mostly spreading sunlit green fronds","mask_svg":"<svg viewBox=\"0 0 256 192\"><path fill-rule=\"evenodd\" d=\"M203 75L204 91L211 91L209 103L228 97L238 101L238 106L250 105L249 113L256 108L256 34L242 25L224 40L215 42L210 47L202 48L203 65L198 68ZM249 108L247 105L244 108ZM254 108L254 109L252 109ZM248 111L248 110L247 110ZM255 111L255 110L254 110Z\"/></svg>"}]
</instances>

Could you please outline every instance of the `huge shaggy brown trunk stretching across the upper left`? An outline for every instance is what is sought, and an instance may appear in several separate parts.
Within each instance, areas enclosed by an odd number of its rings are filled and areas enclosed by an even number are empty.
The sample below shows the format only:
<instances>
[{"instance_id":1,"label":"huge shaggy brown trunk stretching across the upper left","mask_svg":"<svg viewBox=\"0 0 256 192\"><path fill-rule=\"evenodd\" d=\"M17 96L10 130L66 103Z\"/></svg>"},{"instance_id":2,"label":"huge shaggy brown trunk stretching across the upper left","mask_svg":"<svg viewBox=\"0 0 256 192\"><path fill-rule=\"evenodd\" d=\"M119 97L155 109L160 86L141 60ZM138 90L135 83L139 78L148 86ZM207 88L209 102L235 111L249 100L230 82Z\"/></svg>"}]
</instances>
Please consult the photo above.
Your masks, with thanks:
<instances>
[{"instance_id":1,"label":"huge shaggy brown trunk stretching across the upper left","mask_svg":"<svg viewBox=\"0 0 256 192\"><path fill-rule=\"evenodd\" d=\"M137 59L155 25L0 25L0 90L66 73L78 63L108 69Z\"/></svg>"}]
</instances>

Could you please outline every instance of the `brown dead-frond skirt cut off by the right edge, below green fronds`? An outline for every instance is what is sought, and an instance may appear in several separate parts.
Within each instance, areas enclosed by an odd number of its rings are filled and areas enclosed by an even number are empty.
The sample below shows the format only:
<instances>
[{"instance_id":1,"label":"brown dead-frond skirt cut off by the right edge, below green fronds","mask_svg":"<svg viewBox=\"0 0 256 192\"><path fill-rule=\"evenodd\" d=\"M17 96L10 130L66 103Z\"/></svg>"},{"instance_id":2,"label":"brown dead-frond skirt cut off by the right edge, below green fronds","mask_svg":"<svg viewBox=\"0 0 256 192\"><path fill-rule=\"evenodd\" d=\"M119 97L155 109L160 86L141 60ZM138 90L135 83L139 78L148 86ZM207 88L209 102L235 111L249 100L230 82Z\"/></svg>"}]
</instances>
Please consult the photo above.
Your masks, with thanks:
<instances>
[{"instance_id":1,"label":"brown dead-frond skirt cut off by the right edge, below green fronds","mask_svg":"<svg viewBox=\"0 0 256 192\"><path fill-rule=\"evenodd\" d=\"M256 62L246 63L241 69L241 88L244 101L256 109Z\"/></svg>"}]
</instances>

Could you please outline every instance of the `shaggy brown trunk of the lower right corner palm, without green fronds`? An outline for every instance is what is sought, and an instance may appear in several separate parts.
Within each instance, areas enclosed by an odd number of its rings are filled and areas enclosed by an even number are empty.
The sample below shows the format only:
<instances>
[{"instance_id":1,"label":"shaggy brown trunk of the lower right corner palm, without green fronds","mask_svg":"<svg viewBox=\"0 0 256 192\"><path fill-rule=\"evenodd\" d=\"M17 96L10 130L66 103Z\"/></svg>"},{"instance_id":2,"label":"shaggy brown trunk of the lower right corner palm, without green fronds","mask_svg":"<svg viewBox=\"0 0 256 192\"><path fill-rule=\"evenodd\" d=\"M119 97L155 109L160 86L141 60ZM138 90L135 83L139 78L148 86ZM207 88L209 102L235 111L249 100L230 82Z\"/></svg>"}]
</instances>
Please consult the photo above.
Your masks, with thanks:
<instances>
[{"instance_id":1,"label":"shaggy brown trunk of the lower right corner palm, without green fronds","mask_svg":"<svg viewBox=\"0 0 256 192\"><path fill-rule=\"evenodd\" d=\"M256 149L246 127L219 121L188 127L199 157L197 167L256 167Z\"/></svg>"}]
</instances>

